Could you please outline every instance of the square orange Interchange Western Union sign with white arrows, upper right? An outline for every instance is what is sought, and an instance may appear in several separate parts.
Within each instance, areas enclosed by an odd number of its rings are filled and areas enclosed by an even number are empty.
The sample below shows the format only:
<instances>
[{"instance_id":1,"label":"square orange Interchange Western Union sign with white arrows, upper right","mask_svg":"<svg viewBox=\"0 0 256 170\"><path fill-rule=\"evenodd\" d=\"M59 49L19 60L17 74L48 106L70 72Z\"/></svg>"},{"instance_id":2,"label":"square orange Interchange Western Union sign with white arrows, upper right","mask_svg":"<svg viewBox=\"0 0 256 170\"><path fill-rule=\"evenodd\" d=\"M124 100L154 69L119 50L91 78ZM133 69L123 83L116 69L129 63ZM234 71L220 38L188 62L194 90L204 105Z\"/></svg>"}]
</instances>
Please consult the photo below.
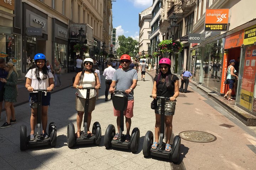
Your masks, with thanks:
<instances>
[{"instance_id":1,"label":"square orange Interchange Western Union sign with white arrows, upper right","mask_svg":"<svg viewBox=\"0 0 256 170\"><path fill-rule=\"evenodd\" d=\"M204 31L227 31L229 9L206 9Z\"/></svg>"}]
</instances>

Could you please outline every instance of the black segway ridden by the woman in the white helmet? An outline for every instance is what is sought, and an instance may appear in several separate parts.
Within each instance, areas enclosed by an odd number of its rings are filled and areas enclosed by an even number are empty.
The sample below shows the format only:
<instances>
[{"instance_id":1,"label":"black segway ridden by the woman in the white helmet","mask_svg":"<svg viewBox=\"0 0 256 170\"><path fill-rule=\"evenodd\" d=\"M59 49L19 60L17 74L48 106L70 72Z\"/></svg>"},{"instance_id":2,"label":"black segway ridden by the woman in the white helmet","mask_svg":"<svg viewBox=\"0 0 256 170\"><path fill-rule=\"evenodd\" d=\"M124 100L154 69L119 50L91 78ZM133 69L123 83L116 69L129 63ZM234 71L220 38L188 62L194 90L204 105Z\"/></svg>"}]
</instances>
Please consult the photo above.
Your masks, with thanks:
<instances>
[{"instance_id":1,"label":"black segway ridden by the woman in the white helmet","mask_svg":"<svg viewBox=\"0 0 256 170\"><path fill-rule=\"evenodd\" d=\"M87 134L87 118L88 118L88 109L89 109L89 98L90 98L90 90L95 89L95 87L83 87L86 89L86 100L85 100L85 113L84 113L84 130L81 131L81 135L78 138L75 135L75 126L73 123L68 124L67 131L67 142L68 147L71 148L75 144L89 144L94 143L95 145L100 145L101 142L101 126L97 121L92 125L92 136Z\"/></svg>"}]
</instances>

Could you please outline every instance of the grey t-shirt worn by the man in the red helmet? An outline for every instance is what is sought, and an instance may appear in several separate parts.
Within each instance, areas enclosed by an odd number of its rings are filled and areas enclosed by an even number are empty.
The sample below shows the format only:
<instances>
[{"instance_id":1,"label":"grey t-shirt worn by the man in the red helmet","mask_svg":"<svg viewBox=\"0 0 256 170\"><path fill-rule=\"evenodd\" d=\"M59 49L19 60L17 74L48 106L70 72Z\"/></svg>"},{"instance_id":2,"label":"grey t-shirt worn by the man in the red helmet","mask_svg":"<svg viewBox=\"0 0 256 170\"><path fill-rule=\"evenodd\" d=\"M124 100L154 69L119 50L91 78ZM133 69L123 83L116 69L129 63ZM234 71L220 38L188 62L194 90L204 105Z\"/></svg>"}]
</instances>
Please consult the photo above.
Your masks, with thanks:
<instances>
[{"instance_id":1,"label":"grey t-shirt worn by the man in the red helmet","mask_svg":"<svg viewBox=\"0 0 256 170\"><path fill-rule=\"evenodd\" d=\"M116 90L127 90L133 84L133 80L138 80L138 73L135 69L117 69L112 81L116 81ZM133 100L133 91L128 95L128 100Z\"/></svg>"}]
</instances>

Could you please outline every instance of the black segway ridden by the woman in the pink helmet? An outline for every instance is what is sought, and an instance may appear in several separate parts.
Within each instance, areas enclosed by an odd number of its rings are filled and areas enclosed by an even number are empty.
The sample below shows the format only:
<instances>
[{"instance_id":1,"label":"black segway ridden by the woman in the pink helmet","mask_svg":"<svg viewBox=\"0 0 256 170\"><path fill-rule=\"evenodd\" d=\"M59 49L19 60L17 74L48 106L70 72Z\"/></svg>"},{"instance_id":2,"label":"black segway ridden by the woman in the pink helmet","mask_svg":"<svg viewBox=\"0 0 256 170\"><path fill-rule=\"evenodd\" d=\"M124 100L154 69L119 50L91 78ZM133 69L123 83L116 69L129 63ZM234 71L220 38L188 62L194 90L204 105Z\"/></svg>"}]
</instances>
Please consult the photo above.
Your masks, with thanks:
<instances>
[{"instance_id":1,"label":"black segway ridden by the woman in the pink helmet","mask_svg":"<svg viewBox=\"0 0 256 170\"><path fill-rule=\"evenodd\" d=\"M152 97L152 96L150 96ZM161 106L165 105L165 100L170 100L168 97L160 97L156 96L156 98L161 99ZM176 101L176 100L175 100ZM144 142L143 142L143 155L145 157L149 157L150 155L161 157L161 158L167 158L171 159L172 162L176 163L179 160L180 155L180 144L181 144L181 138L180 136L175 136L174 141L171 145L171 151L167 152L165 151L165 145L166 143L163 142L164 140L164 124L165 124L165 108L161 107L161 125L160 125L160 141L159 145L156 149L153 149L151 146L153 145L154 135L153 132L147 131Z\"/></svg>"}]
</instances>

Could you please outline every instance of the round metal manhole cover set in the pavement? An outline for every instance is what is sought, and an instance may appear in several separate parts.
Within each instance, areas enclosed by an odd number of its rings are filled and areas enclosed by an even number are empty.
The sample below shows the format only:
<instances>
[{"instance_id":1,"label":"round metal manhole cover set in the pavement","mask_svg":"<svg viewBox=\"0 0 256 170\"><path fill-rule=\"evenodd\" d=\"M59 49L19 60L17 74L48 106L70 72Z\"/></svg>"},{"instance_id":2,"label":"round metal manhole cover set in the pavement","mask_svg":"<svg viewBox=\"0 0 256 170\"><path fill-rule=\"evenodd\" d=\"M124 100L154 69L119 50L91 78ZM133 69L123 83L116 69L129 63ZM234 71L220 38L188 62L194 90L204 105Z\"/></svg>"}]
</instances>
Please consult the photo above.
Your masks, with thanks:
<instances>
[{"instance_id":1,"label":"round metal manhole cover set in the pavement","mask_svg":"<svg viewBox=\"0 0 256 170\"><path fill-rule=\"evenodd\" d=\"M216 136L207 132L194 130L180 132L179 136L186 141L199 143L213 142L217 139Z\"/></svg>"}]
</instances>

